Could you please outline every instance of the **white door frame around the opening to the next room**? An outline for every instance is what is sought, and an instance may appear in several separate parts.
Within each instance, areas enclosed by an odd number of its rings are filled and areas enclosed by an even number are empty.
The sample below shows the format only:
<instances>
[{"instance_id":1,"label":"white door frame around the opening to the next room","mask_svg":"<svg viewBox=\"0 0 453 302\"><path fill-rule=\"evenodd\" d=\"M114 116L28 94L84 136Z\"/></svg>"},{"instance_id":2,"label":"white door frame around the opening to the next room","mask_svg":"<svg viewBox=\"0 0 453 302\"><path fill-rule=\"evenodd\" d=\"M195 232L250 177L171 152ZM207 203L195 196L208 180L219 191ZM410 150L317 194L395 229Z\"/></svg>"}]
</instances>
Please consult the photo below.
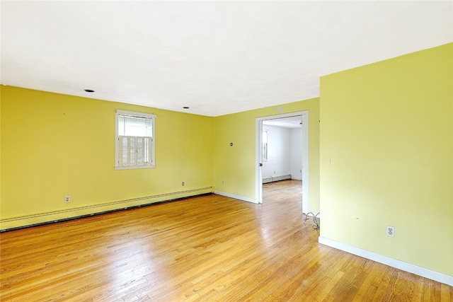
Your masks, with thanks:
<instances>
[{"instance_id":1,"label":"white door frame around the opening to the next room","mask_svg":"<svg viewBox=\"0 0 453 302\"><path fill-rule=\"evenodd\" d=\"M256 178L255 178L255 196L256 202L263 203L263 121L275 120L284 117L295 117L302 115L302 211L306 214L309 212L309 111L290 112L282 115L270 115L267 117L256 117Z\"/></svg>"}]
</instances>

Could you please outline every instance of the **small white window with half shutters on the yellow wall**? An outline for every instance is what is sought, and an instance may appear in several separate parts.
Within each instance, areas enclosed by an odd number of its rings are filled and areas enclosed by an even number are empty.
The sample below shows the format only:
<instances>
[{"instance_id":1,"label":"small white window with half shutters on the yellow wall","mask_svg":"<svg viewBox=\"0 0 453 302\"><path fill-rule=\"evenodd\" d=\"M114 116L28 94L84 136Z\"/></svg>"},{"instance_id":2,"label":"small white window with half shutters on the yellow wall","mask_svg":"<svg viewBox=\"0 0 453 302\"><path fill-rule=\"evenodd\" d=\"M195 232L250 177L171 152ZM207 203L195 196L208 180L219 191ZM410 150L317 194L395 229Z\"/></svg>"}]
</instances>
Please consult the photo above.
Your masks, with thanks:
<instances>
[{"instance_id":1,"label":"small white window with half shutters on the yellow wall","mask_svg":"<svg viewBox=\"0 0 453 302\"><path fill-rule=\"evenodd\" d=\"M116 111L115 168L154 168L156 115Z\"/></svg>"}]
</instances>

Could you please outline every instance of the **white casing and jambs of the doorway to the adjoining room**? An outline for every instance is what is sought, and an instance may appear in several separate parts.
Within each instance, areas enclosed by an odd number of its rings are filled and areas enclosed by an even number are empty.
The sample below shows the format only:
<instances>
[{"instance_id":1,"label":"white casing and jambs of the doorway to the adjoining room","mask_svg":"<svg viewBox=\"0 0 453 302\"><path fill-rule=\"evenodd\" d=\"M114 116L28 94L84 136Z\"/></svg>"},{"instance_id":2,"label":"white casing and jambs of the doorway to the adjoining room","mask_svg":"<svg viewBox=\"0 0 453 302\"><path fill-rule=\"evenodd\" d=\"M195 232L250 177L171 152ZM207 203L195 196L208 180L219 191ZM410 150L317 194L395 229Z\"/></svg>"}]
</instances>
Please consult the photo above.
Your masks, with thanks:
<instances>
[{"instance_id":1,"label":"white casing and jambs of the doorway to the adjoining room","mask_svg":"<svg viewBox=\"0 0 453 302\"><path fill-rule=\"evenodd\" d=\"M256 202L263 203L263 123L264 124L288 124L302 128L302 148L299 149L302 156L300 170L302 174L302 212L309 212L309 112L299 111L283 115L273 115L256 118ZM297 126L294 126L296 124ZM268 146L267 149L269 149Z\"/></svg>"}]
</instances>

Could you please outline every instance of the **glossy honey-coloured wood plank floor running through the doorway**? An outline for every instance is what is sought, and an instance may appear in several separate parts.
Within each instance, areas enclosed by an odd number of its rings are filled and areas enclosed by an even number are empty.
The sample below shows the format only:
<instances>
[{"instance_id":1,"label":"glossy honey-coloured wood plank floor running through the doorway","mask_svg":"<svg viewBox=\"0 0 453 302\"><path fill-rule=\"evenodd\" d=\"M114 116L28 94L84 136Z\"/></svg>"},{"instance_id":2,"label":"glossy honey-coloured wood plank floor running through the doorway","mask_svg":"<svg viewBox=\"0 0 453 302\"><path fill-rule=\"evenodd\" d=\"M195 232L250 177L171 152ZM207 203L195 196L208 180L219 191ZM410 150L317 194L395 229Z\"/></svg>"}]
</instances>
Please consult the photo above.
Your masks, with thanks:
<instances>
[{"instance_id":1,"label":"glossy honey-coloured wood plank floor running through the doorway","mask_svg":"<svg viewBox=\"0 0 453 302\"><path fill-rule=\"evenodd\" d=\"M301 187L1 233L0 300L453 301L452 286L320 245Z\"/></svg>"}]
</instances>

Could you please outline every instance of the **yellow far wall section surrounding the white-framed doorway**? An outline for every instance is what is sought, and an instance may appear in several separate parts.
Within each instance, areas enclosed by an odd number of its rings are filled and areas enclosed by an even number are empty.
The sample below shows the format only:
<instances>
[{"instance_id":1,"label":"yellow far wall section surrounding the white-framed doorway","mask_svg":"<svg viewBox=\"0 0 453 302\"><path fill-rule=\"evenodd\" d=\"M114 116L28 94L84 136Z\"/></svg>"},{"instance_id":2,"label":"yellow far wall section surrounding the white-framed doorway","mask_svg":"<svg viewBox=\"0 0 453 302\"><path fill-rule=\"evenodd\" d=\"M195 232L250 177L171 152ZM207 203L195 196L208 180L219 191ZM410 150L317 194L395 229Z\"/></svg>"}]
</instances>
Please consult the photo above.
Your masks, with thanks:
<instances>
[{"instance_id":1,"label":"yellow far wall section surrounding the white-framed doorway","mask_svg":"<svg viewBox=\"0 0 453 302\"><path fill-rule=\"evenodd\" d=\"M309 209L319 211L319 98L216 117L214 187L256 199L256 118L309 110ZM230 143L233 146L230 146ZM222 184L224 180L224 184Z\"/></svg>"}]
</instances>

